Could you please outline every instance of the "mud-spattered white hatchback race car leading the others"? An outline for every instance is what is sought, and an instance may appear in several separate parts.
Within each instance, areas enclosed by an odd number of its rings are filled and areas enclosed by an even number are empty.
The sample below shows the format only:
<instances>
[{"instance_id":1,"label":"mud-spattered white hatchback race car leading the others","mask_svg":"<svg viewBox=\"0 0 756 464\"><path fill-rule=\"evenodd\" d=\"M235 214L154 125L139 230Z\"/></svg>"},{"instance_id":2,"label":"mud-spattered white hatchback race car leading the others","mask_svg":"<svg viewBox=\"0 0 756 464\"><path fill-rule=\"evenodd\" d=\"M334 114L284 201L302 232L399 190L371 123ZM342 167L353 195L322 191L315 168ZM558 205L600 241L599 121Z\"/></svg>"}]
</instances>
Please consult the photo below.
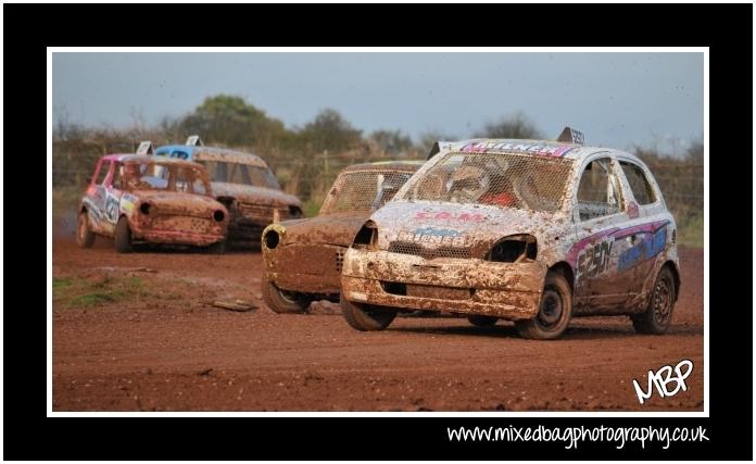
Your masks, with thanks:
<instances>
[{"instance_id":1,"label":"mud-spattered white hatchback race car leading the others","mask_svg":"<svg viewBox=\"0 0 756 464\"><path fill-rule=\"evenodd\" d=\"M514 321L533 339L557 338L582 315L667 330L680 274L654 177L569 128L558 140L437 147L346 251L346 322L380 330L398 311L442 310L479 326Z\"/></svg>"}]
</instances>

